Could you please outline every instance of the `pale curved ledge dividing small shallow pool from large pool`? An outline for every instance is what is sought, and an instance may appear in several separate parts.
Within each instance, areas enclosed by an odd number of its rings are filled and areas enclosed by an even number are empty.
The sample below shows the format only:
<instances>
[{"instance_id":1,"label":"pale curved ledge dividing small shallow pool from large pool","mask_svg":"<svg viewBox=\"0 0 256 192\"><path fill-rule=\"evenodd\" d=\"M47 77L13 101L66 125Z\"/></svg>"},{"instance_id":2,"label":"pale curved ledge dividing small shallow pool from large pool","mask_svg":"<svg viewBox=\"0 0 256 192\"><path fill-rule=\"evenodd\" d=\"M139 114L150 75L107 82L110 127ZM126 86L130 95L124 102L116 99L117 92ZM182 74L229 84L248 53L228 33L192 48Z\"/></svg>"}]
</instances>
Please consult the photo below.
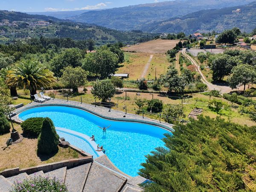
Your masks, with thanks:
<instances>
[{"instance_id":1,"label":"pale curved ledge dividing small shallow pool from large pool","mask_svg":"<svg viewBox=\"0 0 256 192\"><path fill-rule=\"evenodd\" d=\"M64 132L66 134L70 134L70 135L73 135L75 137L79 137L82 140L85 140L85 142L89 143L90 147L93 149L93 151L96 154L98 154L99 157L104 155L104 153L102 151L96 151L95 150L97 148L97 143L95 141L92 141L88 135L82 134L82 133L79 133L79 132L76 132L76 131L73 131L73 130L70 130L70 129L66 129L66 128L60 128L60 127L55 127L55 130L56 131L61 131L61 132ZM96 158L98 158L98 157L96 157Z\"/></svg>"}]
</instances>

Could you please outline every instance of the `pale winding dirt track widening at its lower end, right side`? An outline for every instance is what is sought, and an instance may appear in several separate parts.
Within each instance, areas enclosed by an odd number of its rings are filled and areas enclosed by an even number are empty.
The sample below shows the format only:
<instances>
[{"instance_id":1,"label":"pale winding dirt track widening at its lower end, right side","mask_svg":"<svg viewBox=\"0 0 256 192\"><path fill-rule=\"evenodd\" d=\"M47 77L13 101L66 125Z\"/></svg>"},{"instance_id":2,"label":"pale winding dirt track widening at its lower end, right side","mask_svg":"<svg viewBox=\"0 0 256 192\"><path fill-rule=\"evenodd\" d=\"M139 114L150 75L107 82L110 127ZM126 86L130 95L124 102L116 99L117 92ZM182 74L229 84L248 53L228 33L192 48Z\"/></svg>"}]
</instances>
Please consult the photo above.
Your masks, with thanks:
<instances>
[{"instance_id":1,"label":"pale winding dirt track widening at its lower end, right side","mask_svg":"<svg viewBox=\"0 0 256 192\"><path fill-rule=\"evenodd\" d=\"M195 65L197 72L201 75L202 77L202 81L204 84L206 84L208 86L209 90L219 90L221 91L221 93L230 93L230 91L234 91L232 90L230 87L225 86L225 85L215 85L210 83L209 81L207 81L207 79L205 78L204 74L201 72L200 70L200 66L197 64L197 62L188 54L186 54L186 49L182 49L182 54L185 55L191 62L192 64ZM239 88L240 89L240 88Z\"/></svg>"}]
</instances>

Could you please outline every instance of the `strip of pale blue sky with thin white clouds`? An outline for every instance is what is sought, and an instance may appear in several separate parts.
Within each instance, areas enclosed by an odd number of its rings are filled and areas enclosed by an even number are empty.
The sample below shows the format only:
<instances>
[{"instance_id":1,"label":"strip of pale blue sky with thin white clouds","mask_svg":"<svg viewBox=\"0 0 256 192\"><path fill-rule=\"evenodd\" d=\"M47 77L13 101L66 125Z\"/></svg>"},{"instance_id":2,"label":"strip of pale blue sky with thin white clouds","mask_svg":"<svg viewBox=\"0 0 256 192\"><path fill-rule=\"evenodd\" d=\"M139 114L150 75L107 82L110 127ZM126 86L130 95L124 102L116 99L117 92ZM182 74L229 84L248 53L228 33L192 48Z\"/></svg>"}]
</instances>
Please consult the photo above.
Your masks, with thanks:
<instances>
[{"instance_id":1,"label":"strip of pale blue sky with thin white clouds","mask_svg":"<svg viewBox=\"0 0 256 192\"><path fill-rule=\"evenodd\" d=\"M0 0L0 10L47 12L109 9L166 0Z\"/></svg>"}]
</instances>

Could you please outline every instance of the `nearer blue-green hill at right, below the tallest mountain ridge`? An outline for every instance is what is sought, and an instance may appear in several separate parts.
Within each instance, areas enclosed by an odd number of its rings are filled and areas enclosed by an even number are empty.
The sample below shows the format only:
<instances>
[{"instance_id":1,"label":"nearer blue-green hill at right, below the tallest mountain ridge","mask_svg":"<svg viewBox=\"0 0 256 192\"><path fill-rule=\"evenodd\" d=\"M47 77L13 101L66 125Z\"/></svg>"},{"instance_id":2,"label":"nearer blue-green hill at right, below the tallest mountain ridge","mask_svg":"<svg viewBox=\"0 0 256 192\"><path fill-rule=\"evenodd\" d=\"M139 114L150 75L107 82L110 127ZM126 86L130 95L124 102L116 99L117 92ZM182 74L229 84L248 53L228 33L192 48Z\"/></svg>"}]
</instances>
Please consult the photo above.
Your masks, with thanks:
<instances>
[{"instance_id":1,"label":"nearer blue-green hill at right, below the tallest mountain ridge","mask_svg":"<svg viewBox=\"0 0 256 192\"><path fill-rule=\"evenodd\" d=\"M144 25L144 31L169 32L183 31L186 34L199 32L222 32L224 29L239 27L242 32L256 28L256 1L244 6L223 9L201 10L182 17Z\"/></svg>"}]
</instances>

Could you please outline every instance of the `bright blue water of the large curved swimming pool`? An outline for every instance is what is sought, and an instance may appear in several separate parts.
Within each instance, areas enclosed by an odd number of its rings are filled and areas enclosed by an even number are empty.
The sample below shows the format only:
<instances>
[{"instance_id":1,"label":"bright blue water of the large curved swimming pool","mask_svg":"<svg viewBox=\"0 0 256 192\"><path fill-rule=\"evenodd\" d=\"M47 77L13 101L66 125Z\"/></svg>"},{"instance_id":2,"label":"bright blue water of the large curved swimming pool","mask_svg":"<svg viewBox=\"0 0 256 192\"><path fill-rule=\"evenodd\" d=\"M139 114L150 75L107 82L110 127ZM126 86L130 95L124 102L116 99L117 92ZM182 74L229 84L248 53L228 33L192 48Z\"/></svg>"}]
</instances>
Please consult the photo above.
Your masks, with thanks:
<instances>
[{"instance_id":1,"label":"bright blue water of the large curved swimming pool","mask_svg":"<svg viewBox=\"0 0 256 192\"><path fill-rule=\"evenodd\" d=\"M103 145L106 150L105 154L112 163L122 172L133 177L137 176L138 170L142 168L140 163L145 162L145 155L154 151L156 147L164 146L161 140L164 137L163 134L170 133L157 126L111 121L77 108L64 106L31 108L19 114L21 120L30 117L49 117L55 127L70 129L90 137L94 135L95 142ZM105 134L98 127L109 125L111 127ZM81 145L78 147L86 151L86 147Z\"/></svg>"}]
</instances>

